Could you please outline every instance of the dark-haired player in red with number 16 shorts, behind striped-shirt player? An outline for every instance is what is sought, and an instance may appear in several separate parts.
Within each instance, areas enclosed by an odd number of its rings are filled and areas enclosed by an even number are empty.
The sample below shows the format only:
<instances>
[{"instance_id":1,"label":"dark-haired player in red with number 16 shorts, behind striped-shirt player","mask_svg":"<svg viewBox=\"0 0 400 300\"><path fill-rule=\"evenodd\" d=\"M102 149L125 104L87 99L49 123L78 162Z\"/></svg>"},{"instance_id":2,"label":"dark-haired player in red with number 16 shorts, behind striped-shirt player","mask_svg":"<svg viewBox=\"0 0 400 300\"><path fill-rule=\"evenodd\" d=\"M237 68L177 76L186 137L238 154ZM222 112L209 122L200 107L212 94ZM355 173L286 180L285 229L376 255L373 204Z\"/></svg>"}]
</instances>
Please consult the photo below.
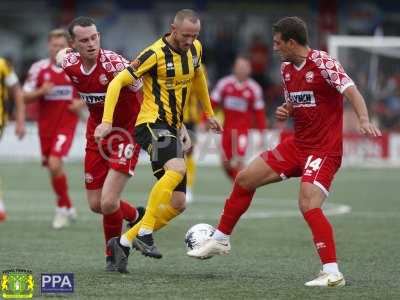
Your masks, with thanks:
<instances>
[{"instance_id":1,"label":"dark-haired player in red with number 16 shorts, behind striped-shirt player","mask_svg":"<svg viewBox=\"0 0 400 300\"><path fill-rule=\"evenodd\" d=\"M119 236L123 220L136 224L144 208L136 209L121 199L121 193L134 175L140 146L134 139L134 126L141 104L142 81L121 90L115 109L113 130L97 142L94 130L103 117L109 82L127 66L121 55L100 48L100 34L89 17L79 17L68 27L72 49L61 50L57 60L71 78L89 109L86 127L85 185L90 209L103 216L105 243ZM106 247L106 271L116 271L111 250Z\"/></svg>"}]
</instances>

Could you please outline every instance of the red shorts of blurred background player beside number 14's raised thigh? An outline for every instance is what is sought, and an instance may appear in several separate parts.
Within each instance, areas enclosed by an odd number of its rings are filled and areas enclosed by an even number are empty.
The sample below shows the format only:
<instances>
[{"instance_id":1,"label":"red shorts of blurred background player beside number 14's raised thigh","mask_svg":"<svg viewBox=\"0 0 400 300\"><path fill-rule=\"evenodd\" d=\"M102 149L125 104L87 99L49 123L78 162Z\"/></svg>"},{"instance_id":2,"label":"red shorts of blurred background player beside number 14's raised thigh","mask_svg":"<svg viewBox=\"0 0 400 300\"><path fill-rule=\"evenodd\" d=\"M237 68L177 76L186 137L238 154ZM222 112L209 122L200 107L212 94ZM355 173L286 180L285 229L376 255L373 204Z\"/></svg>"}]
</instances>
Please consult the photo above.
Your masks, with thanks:
<instances>
[{"instance_id":1,"label":"red shorts of blurred background player beside number 14's raised thigh","mask_svg":"<svg viewBox=\"0 0 400 300\"><path fill-rule=\"evenodd\" d=\"M248 145L248 132L236 129L226 130L222 133L223 160L234 157L244 157Z\"/></svg>"}]
</instances>

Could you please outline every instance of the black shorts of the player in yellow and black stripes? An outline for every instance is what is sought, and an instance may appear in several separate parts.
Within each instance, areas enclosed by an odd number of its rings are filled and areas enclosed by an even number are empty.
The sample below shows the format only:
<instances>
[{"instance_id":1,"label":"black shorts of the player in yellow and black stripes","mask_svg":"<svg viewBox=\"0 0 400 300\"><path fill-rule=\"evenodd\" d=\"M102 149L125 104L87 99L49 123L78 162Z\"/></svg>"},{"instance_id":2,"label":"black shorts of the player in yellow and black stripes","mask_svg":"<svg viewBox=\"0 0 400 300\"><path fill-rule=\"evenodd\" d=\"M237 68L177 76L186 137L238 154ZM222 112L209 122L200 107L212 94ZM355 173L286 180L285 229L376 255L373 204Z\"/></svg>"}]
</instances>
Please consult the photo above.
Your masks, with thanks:
<instances>
[{"instance_id":1,"label":"black shorts of the player in yellow and black stripes","mask_svg":"<svg viewBox=\"0 0 400 300\"><path fill-rule=\"evenodd\" d=\"M157 179L164 175L167 161L184 157L177 129L166 123L143 123L136 126L135 140L150 155L153 175ZM175 191L186 193L186 174Z\"/></svg>"}]
</instances>

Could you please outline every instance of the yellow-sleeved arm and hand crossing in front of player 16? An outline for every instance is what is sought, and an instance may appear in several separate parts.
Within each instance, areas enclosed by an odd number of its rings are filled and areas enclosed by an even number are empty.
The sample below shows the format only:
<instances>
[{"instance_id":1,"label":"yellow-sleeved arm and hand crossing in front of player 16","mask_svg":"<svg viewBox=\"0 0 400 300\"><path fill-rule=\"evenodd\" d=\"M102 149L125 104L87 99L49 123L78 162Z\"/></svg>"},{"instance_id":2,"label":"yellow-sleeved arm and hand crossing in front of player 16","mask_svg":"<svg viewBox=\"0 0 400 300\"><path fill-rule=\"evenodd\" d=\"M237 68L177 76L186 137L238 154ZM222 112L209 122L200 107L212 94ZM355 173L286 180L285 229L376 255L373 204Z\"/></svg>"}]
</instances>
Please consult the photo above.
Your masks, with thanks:
<instances>
[{"instance_id":1,"label":"yellow-sleeved arm and hand crossing in front of player 16","mask_svg":"<svg viewBox=\"0 0 400 300\"><path fill-rule=\"evenodd\" d=\"M107 88L106 98L104 100L102 123L99 124L94 131L94 138L96 141L101 140L111 132L114 110L117 106L121 89L127 85L134 84L135 81L135 78L133 78L126 69L119 73L113 80L111 80Z\"/></svg>"}]
</instances>

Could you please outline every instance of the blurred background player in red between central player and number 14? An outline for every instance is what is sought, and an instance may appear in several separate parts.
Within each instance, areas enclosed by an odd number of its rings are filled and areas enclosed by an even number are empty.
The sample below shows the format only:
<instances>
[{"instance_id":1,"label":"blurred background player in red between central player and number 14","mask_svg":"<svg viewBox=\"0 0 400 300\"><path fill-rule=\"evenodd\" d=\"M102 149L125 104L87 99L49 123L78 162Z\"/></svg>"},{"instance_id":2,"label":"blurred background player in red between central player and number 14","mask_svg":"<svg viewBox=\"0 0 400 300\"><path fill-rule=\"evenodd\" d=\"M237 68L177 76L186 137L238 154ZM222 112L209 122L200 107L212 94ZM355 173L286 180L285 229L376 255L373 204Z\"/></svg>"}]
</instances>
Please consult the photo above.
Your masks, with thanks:
<instances>
[{"instance_id":1,"label":"blurred background player in red between central player and number 14","mask_svg":"<svg viewBox=\"0 0 400 300\"><path fill-rule=\"evenodd\" d=\"M213 107L221 108L224 113L221 159L225 173L232 181L244 168L253 119L256 120L261 140L266 128L262 88L250 78L250 74L250 60L238 56L233 74L221 78L211 93Z\"/></svg>"}]
</instances>

